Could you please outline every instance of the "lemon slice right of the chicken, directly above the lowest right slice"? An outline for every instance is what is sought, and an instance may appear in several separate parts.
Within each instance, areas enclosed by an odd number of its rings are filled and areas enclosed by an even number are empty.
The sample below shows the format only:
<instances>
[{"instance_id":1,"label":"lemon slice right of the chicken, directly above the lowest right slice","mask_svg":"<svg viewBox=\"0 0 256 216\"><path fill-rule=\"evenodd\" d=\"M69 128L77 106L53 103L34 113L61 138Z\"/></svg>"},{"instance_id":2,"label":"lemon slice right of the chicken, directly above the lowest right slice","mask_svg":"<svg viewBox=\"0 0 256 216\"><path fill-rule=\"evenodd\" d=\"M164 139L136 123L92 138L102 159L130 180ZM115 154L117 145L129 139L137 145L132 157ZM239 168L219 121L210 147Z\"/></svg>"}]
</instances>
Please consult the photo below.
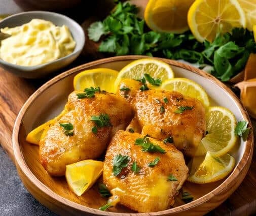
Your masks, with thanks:
<instances>
[{"instance_id":1,"label":"lemon slice right of the chicken, directly above the lowest right slice","mask_svg":"<svg viewBox=\"0 0 256 216\"><path fill-rule=\"evenodd\" d=\"M195 156L207 151L214 157L225 155L236 144L236 118L224 107L209 107L206 113L206 136L201 140Z\"/></svg>"}]
</instances>

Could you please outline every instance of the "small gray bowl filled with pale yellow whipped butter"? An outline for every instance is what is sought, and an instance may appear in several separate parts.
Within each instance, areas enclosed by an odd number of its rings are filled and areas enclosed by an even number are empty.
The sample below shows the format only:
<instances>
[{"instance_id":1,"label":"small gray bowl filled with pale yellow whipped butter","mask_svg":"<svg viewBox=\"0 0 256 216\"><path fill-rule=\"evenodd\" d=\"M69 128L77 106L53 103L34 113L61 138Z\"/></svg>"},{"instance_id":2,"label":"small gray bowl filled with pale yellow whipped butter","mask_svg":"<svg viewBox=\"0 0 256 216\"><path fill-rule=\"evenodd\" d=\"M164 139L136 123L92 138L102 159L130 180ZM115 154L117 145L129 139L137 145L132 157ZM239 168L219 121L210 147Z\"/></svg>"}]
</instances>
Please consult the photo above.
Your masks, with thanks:
<instances>
[{"instance_id":1,"label":"small gray bowl filled with pale yellow whipped butter","mask_svg":"<svg viewBox=\"0 0 256 216\"><path fill-rule=\"evenodd\" d=\"M64 68L85 44L77 22L52 12L15 14L0 22L0 30L5 34L0 41L0 66L24 78L41 78Z\"/></svg>"}]
</instances>

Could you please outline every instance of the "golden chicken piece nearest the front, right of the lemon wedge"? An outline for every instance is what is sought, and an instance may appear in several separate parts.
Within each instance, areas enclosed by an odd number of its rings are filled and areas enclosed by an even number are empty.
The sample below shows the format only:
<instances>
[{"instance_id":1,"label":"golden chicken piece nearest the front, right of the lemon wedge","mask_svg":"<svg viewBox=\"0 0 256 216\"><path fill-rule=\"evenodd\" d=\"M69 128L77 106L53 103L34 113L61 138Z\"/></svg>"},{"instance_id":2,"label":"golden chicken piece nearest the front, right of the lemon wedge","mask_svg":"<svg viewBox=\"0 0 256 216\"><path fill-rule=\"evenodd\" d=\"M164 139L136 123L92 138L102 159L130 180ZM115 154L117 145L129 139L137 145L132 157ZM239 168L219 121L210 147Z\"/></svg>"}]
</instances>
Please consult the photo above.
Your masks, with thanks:
<instances>
[{"instance_id":1,"label":"golden chicken piece nearest the front, right of the lemon wedge","mask_svg":"<svg viewBox=\"0 0 256 216\"><path fill-rule=\"evenodd\" d=\"M120 130L106 151L103 181L112 205L138 212L165 210L187 175L184 156L174 145L141 134Z\"/></svg>"}]
</instances>

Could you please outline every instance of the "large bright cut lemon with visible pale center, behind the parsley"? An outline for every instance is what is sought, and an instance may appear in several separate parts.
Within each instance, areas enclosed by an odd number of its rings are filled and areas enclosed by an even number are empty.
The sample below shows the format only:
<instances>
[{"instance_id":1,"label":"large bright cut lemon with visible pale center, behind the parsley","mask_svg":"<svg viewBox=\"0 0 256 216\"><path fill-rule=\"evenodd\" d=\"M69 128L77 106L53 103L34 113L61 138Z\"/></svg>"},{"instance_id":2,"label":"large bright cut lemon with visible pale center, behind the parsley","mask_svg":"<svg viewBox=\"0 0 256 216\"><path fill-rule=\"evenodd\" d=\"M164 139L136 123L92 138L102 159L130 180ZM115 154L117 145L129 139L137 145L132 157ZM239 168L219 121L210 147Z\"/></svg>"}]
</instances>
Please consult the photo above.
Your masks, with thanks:
<instances>
[{"instance_id":1,"label":"large bright cut lemon with visible pale center, behind the parsley","mask_svg":"<svg viewBox=\"0 0 256 216\"><path fill-rule=\"evenodd\" d=\"M189 9L188 23L198 41L212 42L218 33L245 27L246 18L237 0L196 0Z\"/></svg>"}]
</instances>

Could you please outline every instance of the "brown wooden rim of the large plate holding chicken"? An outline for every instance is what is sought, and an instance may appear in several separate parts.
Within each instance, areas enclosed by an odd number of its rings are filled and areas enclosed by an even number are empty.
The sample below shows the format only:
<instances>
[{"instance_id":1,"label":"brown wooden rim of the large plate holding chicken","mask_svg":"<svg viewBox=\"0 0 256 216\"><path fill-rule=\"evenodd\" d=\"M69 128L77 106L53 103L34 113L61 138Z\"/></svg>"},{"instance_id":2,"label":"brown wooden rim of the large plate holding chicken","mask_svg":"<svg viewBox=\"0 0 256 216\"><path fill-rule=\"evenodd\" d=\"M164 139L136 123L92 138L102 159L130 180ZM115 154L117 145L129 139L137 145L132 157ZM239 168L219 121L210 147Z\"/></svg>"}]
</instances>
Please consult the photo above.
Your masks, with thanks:
<instances>
[{"instance_id":1,"label":"brown wooden rim of the large plate holding chicken","mask_svg":"<svg viewBox=\"0 0 256 216\"><path fill-rule=\"evenodd\" d=\"M121 213L121 212L107 212L107 211L101 211L95 208L91 208L91 207L87 207L75 202L72 202L66 198L61 197L60 195L54 193L50 188L46 187L45 184L43 184L38 178L36 178L36 176L30 171L30 169L28 168L24 156L22 154L22 150L20 148L19 145L19 130L20 130L20 125L23 119L23 116L26 112L26 110L29 108L29 106L31 105L31 103L39 97L39 95L41 94L41 92L43 92L44 90L46 90L48 87L50 87L51 85L53 85L54 83L56 83L57 81L65 78L66 76L69 76L72 73L76 73L78 71L84 70L88 67L92 67L92 66L97 66L97 65L101 65L103 63L112 63L113 61L122 61L122 60L136 60L139 58L149 58L148 56L141 56L141 55L128 55L128 56L116 56L116 57L109 57L109 58L103 58L103 59L99 59L96 61L92 61L90 63L78 66L76 68L70 69L62 74L59 74L58 76L52 78L51 80L49 80L48 82L46 82L44 85L42 85L38 90L36 90L30 97L29 99L25 102L25 104L23 105L23 107L21 108L16 121L15 121L15 125L14 125L14 129L13 129L13 136L12 136L12 141L13 141L13 150L14 150L14 158L15 158L15 163L16 166L18 165L22 171L24 172L24 174L27 176L27 178L29 178L29 180L34 184L34 187L38 188L39 190L41 190L43 193L48 194L49 196L51 196L53 199L57 200L58 202L64 204L64 205L68 205L72 208L78 209L78 210L82 210L85 212L90 212L93 214L98 214L98 215L167 215L170 213L178 213L178 212L182 212L185 210L189 210L195 206L198 206L204 202L207 202L208 200L210 200L213 196L216 196L218 193L222 192L223 190L225 190L229 183L232 182L234 179L237 178L237 176L239 175L240 171L244 169L245 165L247 165L247 163L250 164L250 156L252 155L252 151L253 151L253 134L251 133L245 143L245 151L244 154L240 160L240 162L237 164L237 166L235 167L235 169L232 171L232 173L229 175L229 177L222 183L220 184L220 186L218 186L217 188L215 188L214 190L212 190L211 192L209 192L208 194L204 195L203 197L200 197L190 203L181 205L181 206L177 206L174 208L170 208L164 211L158 211L158 212L150 212L150 213ZM227 94L229 94L231 96L231 98L235 101L235 103L238 105L239 109L242 112L242 116L243 118L249 122L248 126L250 128L252 128L251 125L251 121L250 118L245 110L245 108L243 107L243 105L241 104L241 102L239 101L239 99L236 97L236 95L233 93L233 91L228 88L224 83L222 83L221 81L217 80L215 77L213 77L212 75L197 69L195 67L192 67L190 65L186 65L183 63L180 63L178 61L175 60L170 60L170 59L165 59L165 58L157 58L160 60L165 61L167 64L171 65L171 66L176 66L179 68L183 68L186 70L189 70L193 73L196 73L200 76L203 76L207 79L209 79L211 82L214 82L215 84L217 84L218 86L220 86L224 91L227 92ZM249 166L248 164L248 166Z\"/></svg>"}]
</instances>

